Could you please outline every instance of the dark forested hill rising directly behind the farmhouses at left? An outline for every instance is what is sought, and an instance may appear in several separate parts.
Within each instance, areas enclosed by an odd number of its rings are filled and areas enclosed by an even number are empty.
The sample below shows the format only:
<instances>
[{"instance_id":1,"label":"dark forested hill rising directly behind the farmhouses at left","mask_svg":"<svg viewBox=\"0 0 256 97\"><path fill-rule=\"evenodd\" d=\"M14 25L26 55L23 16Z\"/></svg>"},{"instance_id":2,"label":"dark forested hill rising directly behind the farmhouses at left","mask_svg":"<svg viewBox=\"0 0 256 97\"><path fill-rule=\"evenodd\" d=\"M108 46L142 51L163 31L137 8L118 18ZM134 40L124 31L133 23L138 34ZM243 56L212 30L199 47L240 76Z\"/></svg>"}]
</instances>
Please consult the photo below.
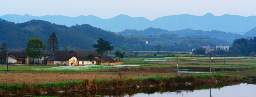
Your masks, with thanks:
<instances>
[{"instance_id":1,"label":"dark forested hill rising directly behind the farmhouses at left","mask_svg":"<svg viewBox=\"0 0 256 97\"><path fill-rule=\"evenodd\" d=\"M10 49L25 49L28 39L39 38L47 43L50 35L55 32L59 41L59 48L63 50L66 44L69 50L94 50L93 44L99 38L110 41L115 47L123 44L141 44L140 39L130 41L124 36L108 32L91 25L75 25L67 27L42 20L31 20L24 23L14 23L0 19L0 43L7 42ZM122 39L122 41L121 41Z\"/></svg>"}]
</instances>

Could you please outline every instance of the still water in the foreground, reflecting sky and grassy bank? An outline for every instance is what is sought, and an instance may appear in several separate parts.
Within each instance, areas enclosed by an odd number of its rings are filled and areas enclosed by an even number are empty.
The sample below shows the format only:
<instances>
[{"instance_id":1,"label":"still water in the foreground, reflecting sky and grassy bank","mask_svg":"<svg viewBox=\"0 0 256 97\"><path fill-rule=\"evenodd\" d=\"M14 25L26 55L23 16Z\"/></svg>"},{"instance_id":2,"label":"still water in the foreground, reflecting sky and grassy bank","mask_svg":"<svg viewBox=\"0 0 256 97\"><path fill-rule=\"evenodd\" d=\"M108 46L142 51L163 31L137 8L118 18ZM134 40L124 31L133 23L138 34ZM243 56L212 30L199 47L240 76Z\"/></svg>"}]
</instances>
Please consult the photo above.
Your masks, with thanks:
<instances>
[{"instance_id":1,"label":"still water in the foreground, reflecting sky and grassy bank","mask_svg":"<svg viewBox=\"0 0 256 97\"><path fill-rule=\"evenodd\" d=\"M23 95L15 97L256 97L256 85L242 82L209 83L112 90Z\"/></svg>"}]
</instances>

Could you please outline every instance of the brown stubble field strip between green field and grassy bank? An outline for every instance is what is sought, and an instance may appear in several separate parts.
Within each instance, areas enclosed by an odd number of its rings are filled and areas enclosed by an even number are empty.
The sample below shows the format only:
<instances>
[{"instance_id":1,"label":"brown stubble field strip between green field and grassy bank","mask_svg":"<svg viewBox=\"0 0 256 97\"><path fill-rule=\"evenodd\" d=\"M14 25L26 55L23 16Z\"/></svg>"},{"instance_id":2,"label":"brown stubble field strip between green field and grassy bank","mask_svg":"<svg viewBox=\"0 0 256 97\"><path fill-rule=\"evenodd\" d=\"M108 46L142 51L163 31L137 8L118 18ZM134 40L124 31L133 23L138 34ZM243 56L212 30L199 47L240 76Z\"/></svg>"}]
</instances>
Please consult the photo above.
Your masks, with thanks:
<instances>
[{"instance_id":1,"label":"brown stubble field strip between green field and grassy bank","mask_svg":"<svg viewBox=\"0 0 256 97\"><path fill-rule=\"evenodd\" d=\"M170 77L175 76L172 72L125 72L128 78L147 78L147 77ZM9 73L0 74L0 84L23 84L23 83L48 83L48 82L65 82L84 79L115 79L117 72L98 72L85 71L73 73Z\"/></svg>"}]
</instances>

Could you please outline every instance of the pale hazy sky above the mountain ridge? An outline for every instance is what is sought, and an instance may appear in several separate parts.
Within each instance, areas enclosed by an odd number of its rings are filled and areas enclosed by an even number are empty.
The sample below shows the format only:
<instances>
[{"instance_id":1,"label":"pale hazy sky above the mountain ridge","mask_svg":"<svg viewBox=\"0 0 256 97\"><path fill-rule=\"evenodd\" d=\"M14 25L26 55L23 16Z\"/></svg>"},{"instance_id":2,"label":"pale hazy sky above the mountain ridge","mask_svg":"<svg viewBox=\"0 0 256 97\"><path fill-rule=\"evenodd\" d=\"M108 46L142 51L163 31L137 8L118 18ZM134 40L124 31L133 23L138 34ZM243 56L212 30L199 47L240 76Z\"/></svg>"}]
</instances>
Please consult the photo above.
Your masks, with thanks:
<instances>
[{"instance_id":1,"label":"pale hazy sky above the mountain ridge","mask_svg":"<svg viewBox=\"0 0 256 97\"><path fill-rule=\"evenodd\" d=\"M256 16L256 0L0 0L0 16L94 15L103 19L120 14L154 20L169 15L224 14Z\"/></svg>"}]
</instances>

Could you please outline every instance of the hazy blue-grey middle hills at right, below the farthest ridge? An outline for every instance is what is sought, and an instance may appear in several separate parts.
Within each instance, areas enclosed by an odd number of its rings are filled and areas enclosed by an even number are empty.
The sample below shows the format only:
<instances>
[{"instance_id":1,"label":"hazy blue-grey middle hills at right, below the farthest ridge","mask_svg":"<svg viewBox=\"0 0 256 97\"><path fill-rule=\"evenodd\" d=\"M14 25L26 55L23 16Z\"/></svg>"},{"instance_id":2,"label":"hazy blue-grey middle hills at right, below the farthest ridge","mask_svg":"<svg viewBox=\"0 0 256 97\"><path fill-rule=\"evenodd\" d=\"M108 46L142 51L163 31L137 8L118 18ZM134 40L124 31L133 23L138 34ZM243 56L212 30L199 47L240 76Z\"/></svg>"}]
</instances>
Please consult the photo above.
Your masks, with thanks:
<instances>
[{"instance_id":1,"label":"hazy blue-grey middle hills at right, below the farthest ridge","mask_svg":"<svg viewBox=\"0 0 256 97\"><path fill-rule=\"evenodd\" d=\"M202 31L202 30L194 30L191 28L183 29L183 30L177 30L177 31L167 31L165 29L160 28L147 28L144 30L136 30L136 29L126 29L122 32L118 32L119 34L122 34L124 36L159 36L163 33L169 33L169 34L177 34L179 37L186 37L186 36L209 36L211 38L220 38L225 41L233 42L236 38L242 38L242 37L249 37L241 34L236 33L226 33L223 31L218 30L211 30L211 31ZM254 36L252 36L254 37Z\"/></svg>"}]
</instances>

